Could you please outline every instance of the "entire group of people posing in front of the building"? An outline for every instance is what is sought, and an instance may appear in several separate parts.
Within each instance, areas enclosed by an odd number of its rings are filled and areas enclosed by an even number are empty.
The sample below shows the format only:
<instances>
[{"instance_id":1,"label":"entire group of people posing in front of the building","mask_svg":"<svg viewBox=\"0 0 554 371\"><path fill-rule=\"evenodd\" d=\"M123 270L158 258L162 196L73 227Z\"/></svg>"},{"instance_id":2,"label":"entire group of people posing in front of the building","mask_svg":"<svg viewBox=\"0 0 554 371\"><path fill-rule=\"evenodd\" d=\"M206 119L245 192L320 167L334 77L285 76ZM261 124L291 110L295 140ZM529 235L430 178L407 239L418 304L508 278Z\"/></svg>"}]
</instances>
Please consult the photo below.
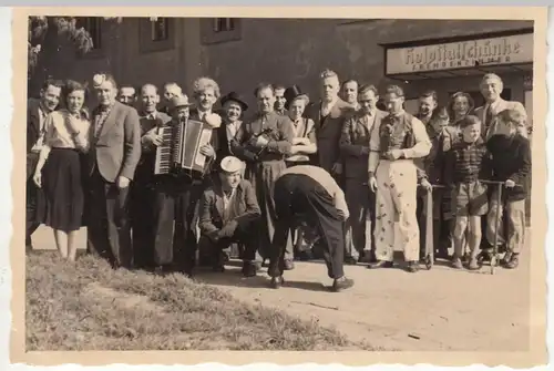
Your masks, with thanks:
<instances>
[{"instance_id":1,"label":"entire group of people posing in front of the building","mask_svg":"<svg viewBox=\"0 0 554 371\"><path fill-rule=\"evenodd\" d=\"M197 265L223 271L236 244L243 274L268 261L276 288L295 259L320 254L340 291L353 285L343 264L392 267L396 249L418 271L423 193L432 192L439 257L453 241L452 265L463 267L469 247L468 268L479 268L483 226L489 246L495 235L505 245L503 265L517 266L531 150L525 110L501 99L497 75L482 79L482 107L463 92L439 106L425 92L414 115L398 85L381 99L376 86L325 70L319 87L310 102L297 85L259 84L250 114L240 94L220 96L209 78L194 82L189 102L176 83L160 94L99 73L99 104L89 111L86 84L47 81L28 104L28 249L44 224L74 260L75 234L86 226L88 251L114 268L192 277ZM213 128L199 148L205 169L155 174L160 128L188 120ZM500 205L488 182L504 184ZM497 218L506 223L495 230Z\"/></svg>"}]
</instances>

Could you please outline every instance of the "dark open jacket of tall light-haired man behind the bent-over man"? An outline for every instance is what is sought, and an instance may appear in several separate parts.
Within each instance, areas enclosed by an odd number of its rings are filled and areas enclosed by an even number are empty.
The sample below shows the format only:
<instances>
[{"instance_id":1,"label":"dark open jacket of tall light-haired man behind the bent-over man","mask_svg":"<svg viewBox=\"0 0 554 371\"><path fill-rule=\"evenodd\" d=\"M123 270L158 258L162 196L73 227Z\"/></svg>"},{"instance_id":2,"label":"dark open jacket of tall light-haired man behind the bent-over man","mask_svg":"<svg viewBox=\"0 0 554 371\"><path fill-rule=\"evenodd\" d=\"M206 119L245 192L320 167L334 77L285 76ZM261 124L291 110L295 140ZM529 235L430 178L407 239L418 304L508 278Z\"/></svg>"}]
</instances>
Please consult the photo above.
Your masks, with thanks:
<instances>
[{"instance_id":1,"label":"dark open jacket of tall light-haired man behind the bent-over man","mask_svg":"<svg viewBox=\"0 0 554 371\"><path fill-rule=\"evenodd\" d=\"M339 146L342 126L355 110L349 103L338 99L327 117L321 117L321 102L308 106L306 111L306 115L316 125L318 164L330 172L336 163L342 163Z\"/></svg>"}]
</instances>

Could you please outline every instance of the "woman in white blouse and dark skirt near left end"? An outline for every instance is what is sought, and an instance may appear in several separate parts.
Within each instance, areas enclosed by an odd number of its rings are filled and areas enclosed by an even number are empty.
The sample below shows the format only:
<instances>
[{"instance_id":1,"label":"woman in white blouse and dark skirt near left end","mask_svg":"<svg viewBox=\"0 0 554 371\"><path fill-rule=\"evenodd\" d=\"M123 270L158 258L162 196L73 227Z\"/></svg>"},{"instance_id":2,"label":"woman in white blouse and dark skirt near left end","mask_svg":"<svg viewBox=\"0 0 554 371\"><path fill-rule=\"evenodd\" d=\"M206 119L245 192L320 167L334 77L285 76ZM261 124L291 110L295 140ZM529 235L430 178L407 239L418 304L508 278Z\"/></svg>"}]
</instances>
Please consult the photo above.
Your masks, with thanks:
<instances>
[{"instance_id":1,"label":"woman in white blouse and dark skirt near left end","mask_svg":"<svg viewBox=\"0 0 554 371\"><path fill-rule=\"evenodd\" d=\"M33 176L45 195L39 205L40 221L53 229L60 255L71 261L75 260L75 237L84 210L81 154L89 148L91 126L83 109L85 92L75 81L65 83L62 99L66 109L47 117L44 145Z\"/></svg>"}]
</instances>

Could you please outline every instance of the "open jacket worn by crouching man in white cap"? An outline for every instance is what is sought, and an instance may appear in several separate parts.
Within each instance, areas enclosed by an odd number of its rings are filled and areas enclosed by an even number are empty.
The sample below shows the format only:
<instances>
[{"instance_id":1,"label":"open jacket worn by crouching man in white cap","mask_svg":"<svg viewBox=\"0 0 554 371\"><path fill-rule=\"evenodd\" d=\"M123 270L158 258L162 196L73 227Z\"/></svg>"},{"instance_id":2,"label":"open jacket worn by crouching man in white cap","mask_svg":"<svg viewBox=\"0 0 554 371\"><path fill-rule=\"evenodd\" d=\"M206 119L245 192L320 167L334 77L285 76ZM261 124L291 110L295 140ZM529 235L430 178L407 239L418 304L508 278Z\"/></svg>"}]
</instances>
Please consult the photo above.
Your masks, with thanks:
<instances>
[{"instance_id":1,"label":"open jacket worn by crouching man in white cap","mask_svg":"<svg viewBox=\"0 0 554 371\"><path fill-rule=\"evenodd\" d=\"M261 215L256 190L250 182L242 179L237 186L235 197L229 205L227 217L224 216L223 188L222 183L214 182L214 185L206 190L202 196L199 209L201 233L207 235L222 229L228 223L235 221L236 226L246 226L248 223L256 220Z\"/></svg>"}]
</instances>

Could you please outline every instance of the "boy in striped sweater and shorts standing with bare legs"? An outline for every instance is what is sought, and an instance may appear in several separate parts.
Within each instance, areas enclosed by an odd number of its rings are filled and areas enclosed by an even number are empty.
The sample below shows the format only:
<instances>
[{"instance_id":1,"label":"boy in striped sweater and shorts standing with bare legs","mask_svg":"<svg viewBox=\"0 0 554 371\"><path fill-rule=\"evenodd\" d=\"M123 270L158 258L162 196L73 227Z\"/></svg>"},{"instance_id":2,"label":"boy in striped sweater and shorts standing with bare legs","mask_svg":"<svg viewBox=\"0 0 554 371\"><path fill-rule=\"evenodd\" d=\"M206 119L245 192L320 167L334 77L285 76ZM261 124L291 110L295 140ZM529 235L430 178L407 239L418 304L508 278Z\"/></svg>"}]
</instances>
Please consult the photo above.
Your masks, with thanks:
<instances>
[{"instance_id":1,"label":"boy in striped sweater and shorts standing with bare legs","mask_svg":"<svg viewBox=\"0 0 554 371\"><path fill-rule=\"evenodd\" d=\"M480 181L490 177L491 156L481 137L481 121L476 116L468 115L459 124L461 141L452 145L444 164L444 183L452 194L452 215L455 218L452 266L462 268L464 237L468 236L468 268L475 270L479 269L481 217L486 215L489 208L486 185Z\"/></svg>"}]
</instances>

